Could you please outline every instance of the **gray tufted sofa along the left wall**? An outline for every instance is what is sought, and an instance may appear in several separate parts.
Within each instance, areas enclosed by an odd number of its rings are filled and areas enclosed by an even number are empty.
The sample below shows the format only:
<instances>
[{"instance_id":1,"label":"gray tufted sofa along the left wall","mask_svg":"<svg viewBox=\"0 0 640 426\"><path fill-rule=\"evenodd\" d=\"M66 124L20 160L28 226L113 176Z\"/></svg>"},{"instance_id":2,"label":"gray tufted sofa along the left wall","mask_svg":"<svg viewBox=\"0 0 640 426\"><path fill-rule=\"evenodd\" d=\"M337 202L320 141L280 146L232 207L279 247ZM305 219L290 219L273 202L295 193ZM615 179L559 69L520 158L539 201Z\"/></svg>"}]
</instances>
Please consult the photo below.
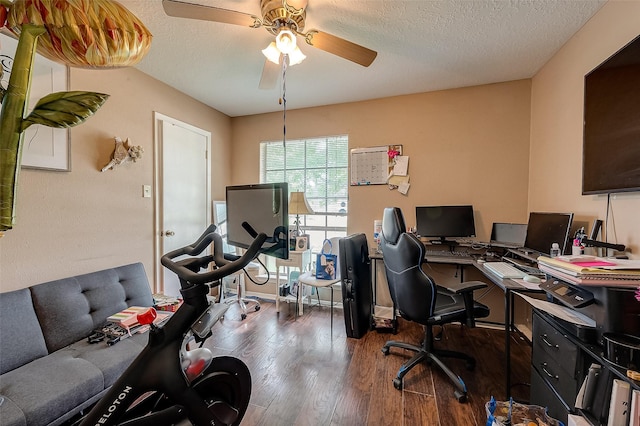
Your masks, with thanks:
<instances>
[{"instance_id":1,"label":"gray tufted sofa along the left wall","mask_svg":"<svg viewBox=\"0 0 640 426\"><path fill-rule=\"evenodd\" d=\"M0 294L0 424L59 425L105 392L147 343L87 337L128 306L152 306L141 263Z\"/></svg>"}]
</instances>

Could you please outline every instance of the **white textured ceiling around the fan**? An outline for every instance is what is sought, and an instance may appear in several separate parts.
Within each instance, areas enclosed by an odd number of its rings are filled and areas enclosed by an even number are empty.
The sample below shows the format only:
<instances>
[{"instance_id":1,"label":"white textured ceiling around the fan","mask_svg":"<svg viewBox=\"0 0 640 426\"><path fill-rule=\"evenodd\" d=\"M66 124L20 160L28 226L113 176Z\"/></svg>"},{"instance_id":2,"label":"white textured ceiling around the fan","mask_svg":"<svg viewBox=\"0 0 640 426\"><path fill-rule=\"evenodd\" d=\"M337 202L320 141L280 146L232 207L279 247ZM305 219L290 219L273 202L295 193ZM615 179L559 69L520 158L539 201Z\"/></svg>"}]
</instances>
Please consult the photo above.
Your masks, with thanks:
<instances>
[{"instance_id":1,"label":"white textured ceiling around the fan","mask_svg":"<svg viewBox=\"0 0 640 426\"><path fill-rule=\"evenodd\" d=\"M160 0L119 0L153 33L141 71L231 117L273 112L260 90L264 28L166 16ZM259 0L190 0L260 16ZM286 106L320 105L532 77L602 0L308 0L312 28L378 52L368 67L315 49L286 72Z\"/></svg>"}]
</instances>

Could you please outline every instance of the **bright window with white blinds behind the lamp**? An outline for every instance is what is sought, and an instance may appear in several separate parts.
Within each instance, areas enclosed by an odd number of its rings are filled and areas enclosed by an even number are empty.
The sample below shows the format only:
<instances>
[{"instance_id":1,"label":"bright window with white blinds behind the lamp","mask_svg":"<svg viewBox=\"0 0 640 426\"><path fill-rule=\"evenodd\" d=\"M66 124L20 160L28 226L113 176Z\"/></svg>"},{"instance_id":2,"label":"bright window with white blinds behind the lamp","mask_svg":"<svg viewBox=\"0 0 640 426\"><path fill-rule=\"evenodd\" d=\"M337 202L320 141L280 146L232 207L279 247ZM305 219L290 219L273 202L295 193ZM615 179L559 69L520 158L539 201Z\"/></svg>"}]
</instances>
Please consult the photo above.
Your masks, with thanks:
<instances>
[{"instance_id":1,"label":"bright window with white blinds behind the lamp","mask_svg":"<svg viewBox=\"0 0 640 426\"><path fill-rule=\"evenodd\" d=\"M305 193L313 215L300 217L311 248L319 253L326 238L347 235L349 138L346 135L260 144L260 182L287 182ZM289 217L294 223L295 216Z\"/></svg>"}]
</instances>

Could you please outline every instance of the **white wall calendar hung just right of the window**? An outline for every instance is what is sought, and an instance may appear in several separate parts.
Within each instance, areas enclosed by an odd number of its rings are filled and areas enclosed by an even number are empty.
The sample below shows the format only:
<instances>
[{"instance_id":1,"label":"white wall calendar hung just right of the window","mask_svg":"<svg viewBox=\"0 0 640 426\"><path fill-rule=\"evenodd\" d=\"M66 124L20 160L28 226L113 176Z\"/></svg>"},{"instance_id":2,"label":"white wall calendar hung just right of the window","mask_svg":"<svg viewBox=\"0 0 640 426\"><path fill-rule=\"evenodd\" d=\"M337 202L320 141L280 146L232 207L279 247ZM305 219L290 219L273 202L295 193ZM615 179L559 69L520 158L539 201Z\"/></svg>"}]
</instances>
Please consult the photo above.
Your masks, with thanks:
<instances>
[{"instance_id":1,"label":"white wall calendar hung just right of the window","mask_svg":"<svg viewBox=\"0 0 640 426\"><path fill-rule=\"evenodd\" d=\"M390 151L402 155L402 145L352 149L351 185L386 185L393 169Z\"/></svg>"}]
</instances>

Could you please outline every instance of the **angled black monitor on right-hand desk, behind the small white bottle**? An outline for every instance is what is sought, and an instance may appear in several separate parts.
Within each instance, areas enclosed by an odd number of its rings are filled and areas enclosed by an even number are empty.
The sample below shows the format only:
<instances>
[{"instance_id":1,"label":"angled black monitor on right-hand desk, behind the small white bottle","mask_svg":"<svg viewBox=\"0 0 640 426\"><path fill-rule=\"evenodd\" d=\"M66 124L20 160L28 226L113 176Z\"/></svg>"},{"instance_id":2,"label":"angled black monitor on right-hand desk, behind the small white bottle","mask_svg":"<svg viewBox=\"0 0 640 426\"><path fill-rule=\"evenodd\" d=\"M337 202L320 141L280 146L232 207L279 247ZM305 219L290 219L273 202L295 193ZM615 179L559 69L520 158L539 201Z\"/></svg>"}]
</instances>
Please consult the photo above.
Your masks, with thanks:
<instances>
[{"instance_id":1,"label":"angled black monitor on right-hand desk, behind the small white bottle","mask_svg":"<svg viewBox=\"0 0 640 426\"><path fill-rule=\"evenodd\" d=\"M558 243L561 253L567 253L569 230L573 222L573 213L529 213L525 251L549 256L551 245Z\"/></svg>"}]
</instances>

